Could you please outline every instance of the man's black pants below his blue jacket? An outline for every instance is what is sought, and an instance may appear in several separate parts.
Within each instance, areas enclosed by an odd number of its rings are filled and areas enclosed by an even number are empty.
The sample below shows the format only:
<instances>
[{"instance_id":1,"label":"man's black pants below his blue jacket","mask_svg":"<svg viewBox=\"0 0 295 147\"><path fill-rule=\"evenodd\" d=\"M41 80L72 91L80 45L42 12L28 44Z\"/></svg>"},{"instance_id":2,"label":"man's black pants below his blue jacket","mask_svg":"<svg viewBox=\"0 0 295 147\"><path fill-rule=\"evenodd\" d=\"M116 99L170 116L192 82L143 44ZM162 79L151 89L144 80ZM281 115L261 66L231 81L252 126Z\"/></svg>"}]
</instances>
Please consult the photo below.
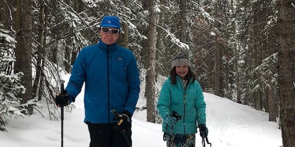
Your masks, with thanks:
<instances>
[{"instance_id":1,"label":"man's black pants below his blue jacket","mask_svg":"<svg viewBox=\"0 0 295 147\"><path fill-rule=\"evenodd\" d=\"M129 147L123 133L115 129L116 123L87 122L87 124L90 134L89 147ZM125 134L132 145L131 130Z\"/></svg>"}]
</instances>

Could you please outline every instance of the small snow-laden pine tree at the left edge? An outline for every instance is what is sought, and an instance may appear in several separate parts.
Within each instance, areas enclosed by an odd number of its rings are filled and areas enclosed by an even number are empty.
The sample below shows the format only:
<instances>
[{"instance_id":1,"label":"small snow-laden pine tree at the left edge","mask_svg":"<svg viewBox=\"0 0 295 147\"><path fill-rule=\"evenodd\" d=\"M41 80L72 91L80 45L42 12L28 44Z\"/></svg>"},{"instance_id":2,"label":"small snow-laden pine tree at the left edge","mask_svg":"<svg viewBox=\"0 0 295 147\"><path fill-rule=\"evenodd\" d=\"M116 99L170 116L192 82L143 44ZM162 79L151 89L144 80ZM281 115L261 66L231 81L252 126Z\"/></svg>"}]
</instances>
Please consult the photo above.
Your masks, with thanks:
<instances>
[{"instance_id":1,"label":"small snow-laden pine tree at the left edge","mask_svg":"<svg viewBox=\"0 0 295 147\"><path fill-rule=\"evenodd\" d=\"M7 131L4 126L10 117L29 115L27 106L37 103L32 99L21 104L21 98L18 96L25 93L25 87L21 85L24 73L7 74L10 73L12 62L15 61L11 52L15 48L16 41L3 28L4 26L0 25L0 131Z\"/></svg>"}]
</instances>

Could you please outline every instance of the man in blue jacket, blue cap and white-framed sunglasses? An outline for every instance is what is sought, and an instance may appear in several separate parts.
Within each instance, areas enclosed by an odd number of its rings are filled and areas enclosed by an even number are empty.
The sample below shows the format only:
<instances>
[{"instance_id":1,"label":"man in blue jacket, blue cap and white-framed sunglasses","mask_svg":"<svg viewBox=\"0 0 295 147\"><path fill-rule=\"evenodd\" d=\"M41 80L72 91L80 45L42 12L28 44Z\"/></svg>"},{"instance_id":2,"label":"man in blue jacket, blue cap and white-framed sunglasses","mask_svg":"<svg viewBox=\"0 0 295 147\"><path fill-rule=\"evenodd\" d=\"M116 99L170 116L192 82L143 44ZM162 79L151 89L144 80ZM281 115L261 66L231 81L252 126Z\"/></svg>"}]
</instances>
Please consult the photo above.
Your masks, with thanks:
<instances>
[{"instance_id":1,"label":"man in blue jacket, blue cap and white-framed sunglasses","mask_svg":"<svg viewBox=\"0 0 295 147\"><path fill-rule=\"evenodd\" d=\"M89 128L89 147L131 147L131 117L139 98L140 79L133 53L118 46L120 29L118 17L102 19L98 44L80 51L67 94L56 97L58 106L74 102L85 82L84 122ZM116 123L113 109L121 114L121 123Z\"/></svg>"}]
</instances>

